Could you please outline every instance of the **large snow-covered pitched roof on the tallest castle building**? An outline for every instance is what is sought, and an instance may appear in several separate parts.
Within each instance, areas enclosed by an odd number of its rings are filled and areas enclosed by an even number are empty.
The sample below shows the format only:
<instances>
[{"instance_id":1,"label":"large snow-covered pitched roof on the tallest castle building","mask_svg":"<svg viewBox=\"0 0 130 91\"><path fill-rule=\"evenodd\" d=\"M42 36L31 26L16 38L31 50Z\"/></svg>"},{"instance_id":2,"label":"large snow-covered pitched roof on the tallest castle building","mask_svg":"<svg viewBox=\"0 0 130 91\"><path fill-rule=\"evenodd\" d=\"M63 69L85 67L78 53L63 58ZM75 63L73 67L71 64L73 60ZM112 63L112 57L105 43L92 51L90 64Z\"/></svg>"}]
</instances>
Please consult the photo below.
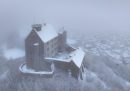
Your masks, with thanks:
<instances>
[{"instance_id":1,"label":"large snow-covered pitched roof on the tallest castle building","mask_svg":"<svg viewBox=\"0 0 130 91\"><path fill-rule=\"evenodd\" d=\"M36 32L45 43L58 36L57 32L50 24L42 26L42 30Z\"/></svg>"}]
</instances>

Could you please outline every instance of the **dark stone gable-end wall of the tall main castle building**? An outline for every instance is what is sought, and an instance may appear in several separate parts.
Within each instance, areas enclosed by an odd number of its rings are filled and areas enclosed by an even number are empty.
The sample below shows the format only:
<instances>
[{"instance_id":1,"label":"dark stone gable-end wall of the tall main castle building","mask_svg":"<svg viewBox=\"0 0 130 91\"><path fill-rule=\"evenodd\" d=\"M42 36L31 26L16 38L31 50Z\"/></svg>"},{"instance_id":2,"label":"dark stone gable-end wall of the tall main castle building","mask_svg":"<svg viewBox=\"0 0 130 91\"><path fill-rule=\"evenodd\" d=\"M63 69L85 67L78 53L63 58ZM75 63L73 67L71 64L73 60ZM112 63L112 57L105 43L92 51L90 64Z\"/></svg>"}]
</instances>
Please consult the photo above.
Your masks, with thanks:
<instances>
[{"instance_id":1,"label":"dark stone gable-end wall of the tall main castle building","mask_svg":"<svg viewBox=\"0 0 130 91\"><path fill-rule=\"evenodd\" d=\"M35 68L43 60L44 44L33 30L25 40L25 53L27 65L31 68Z\"/></svg>"}]
</instances>

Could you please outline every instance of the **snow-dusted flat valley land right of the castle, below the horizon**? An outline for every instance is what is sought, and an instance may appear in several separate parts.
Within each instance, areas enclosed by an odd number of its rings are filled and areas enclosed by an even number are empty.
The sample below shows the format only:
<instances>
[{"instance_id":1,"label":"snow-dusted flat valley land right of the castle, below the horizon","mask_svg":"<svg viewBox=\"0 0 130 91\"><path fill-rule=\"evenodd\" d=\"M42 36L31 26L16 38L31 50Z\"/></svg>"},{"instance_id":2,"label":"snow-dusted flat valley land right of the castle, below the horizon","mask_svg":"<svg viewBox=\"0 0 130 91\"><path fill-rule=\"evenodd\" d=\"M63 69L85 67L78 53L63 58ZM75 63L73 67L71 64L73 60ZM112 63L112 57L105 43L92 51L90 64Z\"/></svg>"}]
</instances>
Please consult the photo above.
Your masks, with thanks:
<instances>
[{"instance_id":1,"label":"snow-dusted flat valley land right of the castle, below the horizon","mask_svg":"<svg viewBox=\"0 0 130 91\"><path fill-rule=\"evenodd\" d=\"M93 55L107 56L118 60L117 63L125 62L128 64L130 63L130 44L128 40L121 40L118 38L92 38L91 40L86 41L83 47L86 52Z\"/></svg>"}]
</instances>

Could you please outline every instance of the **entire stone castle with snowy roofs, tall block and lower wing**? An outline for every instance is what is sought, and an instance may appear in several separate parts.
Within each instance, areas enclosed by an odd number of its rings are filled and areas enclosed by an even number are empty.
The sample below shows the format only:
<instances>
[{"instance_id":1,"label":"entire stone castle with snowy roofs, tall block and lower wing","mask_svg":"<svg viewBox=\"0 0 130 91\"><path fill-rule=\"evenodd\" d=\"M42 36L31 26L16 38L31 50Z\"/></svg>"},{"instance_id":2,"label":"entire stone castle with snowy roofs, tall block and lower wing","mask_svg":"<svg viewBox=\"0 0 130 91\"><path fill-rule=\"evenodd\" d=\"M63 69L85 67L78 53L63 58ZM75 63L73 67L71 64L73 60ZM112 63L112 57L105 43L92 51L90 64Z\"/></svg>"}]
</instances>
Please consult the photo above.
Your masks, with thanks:
<instances>
[{"instance_id":1,"label":"entire stone castle with snowy roofs, tall block and lower wing","mask_svg":"<svg viewBox=\"0 0 130 91\"><path fill-rule=\"evenodd\" d=\"M64 29L57 33L49 24L32 25L32 31L25 39L25 52L28 68L49 71L53 63L55 69L83 78L85 54L81 48L74 49L67 44Z\"/></svg>"}]
</instances>

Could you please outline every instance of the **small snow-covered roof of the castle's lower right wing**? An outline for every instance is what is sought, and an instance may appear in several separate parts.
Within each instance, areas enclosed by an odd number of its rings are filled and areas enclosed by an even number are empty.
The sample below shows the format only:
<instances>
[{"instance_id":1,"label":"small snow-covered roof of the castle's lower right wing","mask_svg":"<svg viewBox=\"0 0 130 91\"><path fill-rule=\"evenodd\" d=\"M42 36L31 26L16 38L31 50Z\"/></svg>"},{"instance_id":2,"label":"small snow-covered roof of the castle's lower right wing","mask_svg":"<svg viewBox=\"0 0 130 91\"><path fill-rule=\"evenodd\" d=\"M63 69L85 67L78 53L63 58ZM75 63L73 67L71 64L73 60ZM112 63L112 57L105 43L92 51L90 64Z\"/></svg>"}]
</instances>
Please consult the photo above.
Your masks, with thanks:
<instances>
[{"instance_id":1,"label":"small snow-covered roof of the castle's lower right wing","mask_svg":"<svg viewBox=\"0 0 130 91\"><path fill-rule=\"evenodd\" d=\"M78 49L73 51L70 55L71 55L71 59L75 63L75 65L80 68L80 66L82 65L84 56L85 56L84 51L79 47Z\"/></svg>"}]
</instances>

